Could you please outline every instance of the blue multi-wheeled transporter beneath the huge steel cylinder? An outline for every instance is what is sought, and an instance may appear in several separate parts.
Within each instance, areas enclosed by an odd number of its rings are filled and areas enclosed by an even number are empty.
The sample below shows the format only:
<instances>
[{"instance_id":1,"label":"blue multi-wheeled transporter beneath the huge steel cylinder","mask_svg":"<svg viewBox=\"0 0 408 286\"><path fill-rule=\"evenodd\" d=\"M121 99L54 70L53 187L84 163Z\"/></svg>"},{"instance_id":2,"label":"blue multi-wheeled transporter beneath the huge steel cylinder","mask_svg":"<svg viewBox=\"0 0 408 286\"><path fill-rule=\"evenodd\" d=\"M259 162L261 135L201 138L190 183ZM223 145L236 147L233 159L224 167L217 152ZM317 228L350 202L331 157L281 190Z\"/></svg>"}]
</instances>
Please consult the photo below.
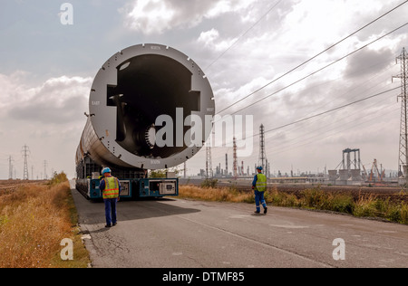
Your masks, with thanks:
<instances>
[{"instance_id":1,"label":"blue multi-wheeled transporter beneath the huge steel cylinder","mask_svg":"<svg viewBox=\"0 0 408 286\"><path fill-rule=\"evenodd\" d=\"M121 198L138 199L179 195L178 178L120 179ZM76 188L90 200L102 199L99 179L77 180Z\"/></svg>"}]
</instances>

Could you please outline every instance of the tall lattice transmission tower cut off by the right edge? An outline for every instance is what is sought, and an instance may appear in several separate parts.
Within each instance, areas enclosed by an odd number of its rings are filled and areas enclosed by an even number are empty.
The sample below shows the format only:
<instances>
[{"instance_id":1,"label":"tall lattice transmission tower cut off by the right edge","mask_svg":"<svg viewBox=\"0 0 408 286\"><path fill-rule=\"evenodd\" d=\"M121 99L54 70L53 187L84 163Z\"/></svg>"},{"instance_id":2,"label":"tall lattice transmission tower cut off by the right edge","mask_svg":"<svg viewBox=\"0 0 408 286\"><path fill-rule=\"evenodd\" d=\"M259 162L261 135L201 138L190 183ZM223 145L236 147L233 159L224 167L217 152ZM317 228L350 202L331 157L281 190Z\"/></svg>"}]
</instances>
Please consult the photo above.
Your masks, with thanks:
<instances>
[{"instance_id":1,"label":"tall lattice transmission tower cut off by the right edge","mask_svg":"<svg viewBox=\"0 0 408 286\"><path fill-rule=\"evenodd\" d=\"M403 48L401 55L396 58L396 62L401 63L401 74L393 76L393 79L401 79L401 94L398 98L402 99L401 107L401 129L400 129L400 156L398 161L399 176L405 177L405 183L408 184L408 110L407 110L407 88L408 88L408 54Z\"/></svg>"}]
</instances>

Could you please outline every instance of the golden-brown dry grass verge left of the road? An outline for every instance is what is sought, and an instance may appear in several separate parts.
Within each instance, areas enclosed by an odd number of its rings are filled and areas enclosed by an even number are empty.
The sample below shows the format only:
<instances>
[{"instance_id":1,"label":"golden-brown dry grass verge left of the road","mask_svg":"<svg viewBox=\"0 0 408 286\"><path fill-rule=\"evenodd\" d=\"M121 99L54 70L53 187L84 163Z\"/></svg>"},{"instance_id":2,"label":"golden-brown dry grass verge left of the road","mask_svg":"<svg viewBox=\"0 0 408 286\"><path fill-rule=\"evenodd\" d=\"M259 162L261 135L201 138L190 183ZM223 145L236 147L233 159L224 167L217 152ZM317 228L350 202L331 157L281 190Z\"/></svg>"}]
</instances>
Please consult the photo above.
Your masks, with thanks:
<instances>
[{"instance_id":1,"label":"golden-brown dry grass verge left of the road","mask_svg":"<svg viewBox=\"0 0 408 286\"><path fill-rule=\"evenodd\" d=\"M62 267L63 238L75 239L68 182L20 186L0 196L0 267Z\"/></svg>"}]
</instances>

